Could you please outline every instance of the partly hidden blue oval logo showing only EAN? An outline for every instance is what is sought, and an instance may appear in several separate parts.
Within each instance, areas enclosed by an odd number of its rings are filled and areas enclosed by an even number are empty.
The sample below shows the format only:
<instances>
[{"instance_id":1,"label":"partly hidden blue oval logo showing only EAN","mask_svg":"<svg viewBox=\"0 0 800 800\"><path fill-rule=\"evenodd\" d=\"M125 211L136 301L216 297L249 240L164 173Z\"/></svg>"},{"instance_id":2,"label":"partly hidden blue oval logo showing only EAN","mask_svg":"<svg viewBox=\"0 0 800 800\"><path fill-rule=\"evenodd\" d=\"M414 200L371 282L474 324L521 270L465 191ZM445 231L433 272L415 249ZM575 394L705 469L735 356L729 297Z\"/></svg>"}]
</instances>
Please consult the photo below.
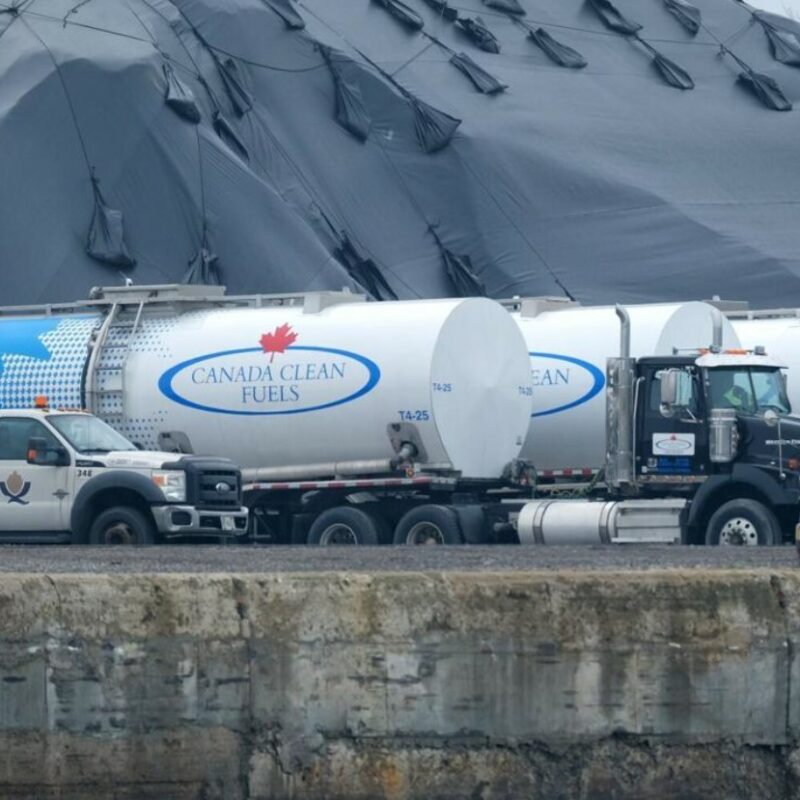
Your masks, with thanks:
<instances>
[{"instance_id":1,"label":"partly hidden blue oval logo showing only EAN","mask_svg":"<svg viewBox=\"0 0 800 800\"><path fill-rule=\"evenodd\" d=\"M570 408L588 403L596 394L602 391L606 384L605 375L588 361L574 356L563 356L558 353L528 353L531 357L531 377L533 380L534 406L537 400L544 397L546 391L552 390L555 395L553 402L557 405L552 408L545 407L534 411L531 417L546 417L550 414L559 414ZM535 363L534 359L546 359L556 362L555 365ZM578 368L575 371L575 368ZM574 397L573 393L577 393ZM571 397L571 395L573 395ZM547 401L545 401L547 402Z\"/></svg>"}]
</instances>

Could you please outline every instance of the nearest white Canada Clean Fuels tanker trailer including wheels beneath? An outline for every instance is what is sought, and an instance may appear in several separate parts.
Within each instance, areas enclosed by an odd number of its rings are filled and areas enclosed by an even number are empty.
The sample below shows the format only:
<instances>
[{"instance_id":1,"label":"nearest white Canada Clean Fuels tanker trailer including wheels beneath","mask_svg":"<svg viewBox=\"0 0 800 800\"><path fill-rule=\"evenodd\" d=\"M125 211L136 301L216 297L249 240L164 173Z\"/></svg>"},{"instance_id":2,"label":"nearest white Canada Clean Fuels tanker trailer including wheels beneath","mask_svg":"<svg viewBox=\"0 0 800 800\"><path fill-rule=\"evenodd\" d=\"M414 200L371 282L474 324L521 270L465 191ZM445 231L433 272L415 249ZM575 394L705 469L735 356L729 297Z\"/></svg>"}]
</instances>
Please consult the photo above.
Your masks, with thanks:
<instances>
[{"instance_id":1,"label":"nearest white Canada Clean Fuels tanker trailer including wheels beneath","mask_svg":"<svg viewBox=\"0 0 800 800\"><path fill-rule=\"evenodd\" d=\"M0 353L3 407L46 394L144 447L233 458L260 540L482 541L494 493L530 494L525 343L485 298L97 289L4 309Z\"/></svg>"}]
</instances>

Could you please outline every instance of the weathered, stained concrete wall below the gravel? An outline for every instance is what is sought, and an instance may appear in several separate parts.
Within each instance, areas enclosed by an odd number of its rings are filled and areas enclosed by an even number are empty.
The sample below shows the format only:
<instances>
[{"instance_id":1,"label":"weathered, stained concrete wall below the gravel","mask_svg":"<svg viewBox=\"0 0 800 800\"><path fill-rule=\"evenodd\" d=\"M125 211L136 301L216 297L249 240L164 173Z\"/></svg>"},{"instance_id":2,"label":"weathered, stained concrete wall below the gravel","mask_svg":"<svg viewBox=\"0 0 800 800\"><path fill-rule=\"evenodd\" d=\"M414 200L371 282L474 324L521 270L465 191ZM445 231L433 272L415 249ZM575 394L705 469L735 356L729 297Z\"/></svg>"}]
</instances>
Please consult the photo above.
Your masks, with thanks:
<instances>
[{"instance_id":1,"label":"weathered, stained concrete wall below the gravel","mask_svg":"<svg viewBox=\"0 0 800 800\"><path fill-rule=\"evenodd\" d=\"M800 575L0 576L0 797L800 798Z\"/></svg>"}]
</instances>

